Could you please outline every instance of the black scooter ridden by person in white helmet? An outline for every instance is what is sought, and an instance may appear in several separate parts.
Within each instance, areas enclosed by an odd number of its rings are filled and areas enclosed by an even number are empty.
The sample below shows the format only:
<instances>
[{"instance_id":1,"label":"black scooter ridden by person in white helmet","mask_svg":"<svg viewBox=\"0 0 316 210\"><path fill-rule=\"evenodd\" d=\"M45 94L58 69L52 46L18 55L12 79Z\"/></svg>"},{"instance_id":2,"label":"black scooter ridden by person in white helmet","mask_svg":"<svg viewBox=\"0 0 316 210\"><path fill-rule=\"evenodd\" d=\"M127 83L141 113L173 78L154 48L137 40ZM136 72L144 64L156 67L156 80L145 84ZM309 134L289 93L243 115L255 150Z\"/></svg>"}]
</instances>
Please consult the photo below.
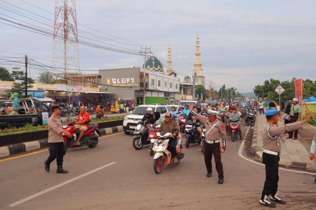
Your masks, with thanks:
<instances>
[{"instance_id":1,"label":"black scooter ridden by person in white helmet","mask_svg":"<svg viewBox=\"0 0 316 210\"><path fill-rule=\"evenodd\" d=\"M136 150L142 149L143 145L150 144L148 133L146 133L146 123L145 121L139 120L133 133L133 147Z\"/></svg>"}]
</instances>

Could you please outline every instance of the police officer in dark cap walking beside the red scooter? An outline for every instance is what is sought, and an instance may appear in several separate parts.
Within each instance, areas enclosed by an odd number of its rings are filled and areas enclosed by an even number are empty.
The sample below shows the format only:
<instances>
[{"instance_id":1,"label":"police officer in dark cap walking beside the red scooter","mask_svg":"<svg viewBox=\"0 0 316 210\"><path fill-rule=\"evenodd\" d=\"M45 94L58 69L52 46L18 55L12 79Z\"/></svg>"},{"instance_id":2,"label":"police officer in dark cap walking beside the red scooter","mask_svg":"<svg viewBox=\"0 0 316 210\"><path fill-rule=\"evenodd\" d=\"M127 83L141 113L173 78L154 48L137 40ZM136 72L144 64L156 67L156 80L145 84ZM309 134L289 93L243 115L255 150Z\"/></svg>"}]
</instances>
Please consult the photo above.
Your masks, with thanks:
<instances>
[{"instance_id":1,"label":"police officer in dark cap walking beside the red scooter","mask_svg":"<svg viewBox=\"0 0 316 210\"><path fill-rule=\"evenodd\" d=\"M65 155L65 147L63 140L63 133L68 137L72 137L71 133L63 130L63 124L59 120L60 114L59 106L52 106L52 116L48 119L48 146L49 156L45 163L45 170L49 172L50 164L57 158L56 173L68 173L63 169L63 157Z\"/></svg>"}]
</instances>

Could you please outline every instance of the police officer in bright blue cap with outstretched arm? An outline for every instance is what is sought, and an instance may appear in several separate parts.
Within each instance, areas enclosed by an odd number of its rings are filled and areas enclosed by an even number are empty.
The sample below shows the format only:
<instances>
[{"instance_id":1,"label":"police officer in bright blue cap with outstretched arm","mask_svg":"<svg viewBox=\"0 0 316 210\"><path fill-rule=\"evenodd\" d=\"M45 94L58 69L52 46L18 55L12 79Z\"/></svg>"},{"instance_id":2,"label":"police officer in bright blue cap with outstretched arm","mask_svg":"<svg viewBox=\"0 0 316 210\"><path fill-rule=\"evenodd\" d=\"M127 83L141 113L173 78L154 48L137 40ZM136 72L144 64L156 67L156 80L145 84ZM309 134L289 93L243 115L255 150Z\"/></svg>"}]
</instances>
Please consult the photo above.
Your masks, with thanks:
<instances>
[{"instance_id":1,"label":"police officer in bright blue cap with outstretched arm","mask_svg":"<svg viewBox=\"0 0 316 210\"><path fill-rule=\"evenodd\" d=\"M276 207L271 201L285 204L286 202L278 196L279 181L279 160L281 153L281 143L278 135L302 129L302 124L306 123L311 117L311 112L306 115L305 120L277 126L279 112L275 109L269 109L265 113L267 122L260 129L263 140L262 162L265 165L265 182L259 203L267 207ZM270 200L268 196L270 195Z\"/></svg>"}]
</instances>

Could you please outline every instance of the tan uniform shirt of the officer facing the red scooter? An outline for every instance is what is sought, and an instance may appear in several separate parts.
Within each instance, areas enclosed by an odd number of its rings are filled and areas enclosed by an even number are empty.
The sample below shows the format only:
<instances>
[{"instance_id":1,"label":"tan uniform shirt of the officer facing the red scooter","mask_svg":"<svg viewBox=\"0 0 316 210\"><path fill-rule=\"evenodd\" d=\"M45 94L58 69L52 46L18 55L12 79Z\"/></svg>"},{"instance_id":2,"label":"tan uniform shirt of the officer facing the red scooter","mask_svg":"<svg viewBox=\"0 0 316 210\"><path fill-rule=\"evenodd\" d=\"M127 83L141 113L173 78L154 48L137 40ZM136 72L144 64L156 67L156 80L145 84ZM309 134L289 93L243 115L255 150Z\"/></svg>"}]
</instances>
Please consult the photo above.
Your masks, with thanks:
<instances>
[{"instance_id":1,"label":"tan uniform shirt of the officer facing the red scooter","mask_svg":"<svg viewBox=\"0 0 316 210\"><path fill-rule=\"evenodd\" d=\"M63 124L58 117L52 114L48 118L48 143L64 142L62 131Z\"/></svg>"}]
</instances>

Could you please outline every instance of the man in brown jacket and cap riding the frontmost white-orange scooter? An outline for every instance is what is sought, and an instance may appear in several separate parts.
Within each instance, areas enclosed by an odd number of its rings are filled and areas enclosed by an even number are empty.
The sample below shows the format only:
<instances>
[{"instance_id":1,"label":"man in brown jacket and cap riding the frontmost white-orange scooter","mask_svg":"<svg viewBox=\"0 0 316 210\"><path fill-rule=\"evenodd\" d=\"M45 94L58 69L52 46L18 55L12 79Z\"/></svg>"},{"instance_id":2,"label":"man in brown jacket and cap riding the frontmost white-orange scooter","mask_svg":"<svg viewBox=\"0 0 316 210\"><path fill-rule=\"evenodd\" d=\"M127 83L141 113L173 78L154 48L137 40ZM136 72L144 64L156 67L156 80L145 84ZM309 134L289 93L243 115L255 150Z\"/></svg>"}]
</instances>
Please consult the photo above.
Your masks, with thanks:
<instances>
[{"instance_id":1,"label":"man in brown jacket and cap riding the frontmost white-orange scooter","mask_svg":"<svg viewBox=\"0 0 316 210\"><path fill-rule=\"evenodd\" d=\"M172 128L177 128L177 130L172 131L171 130ZM177 138L179 138L178 134L180 132L180 128L179 128L179 124L176 121L171 120L171 114L169 112L167 112L165 114L165 121L161 123L160 131L172 133L172 137L174 137L174 138L171 138L169 140L169 146L167 149L171 153L171 158L174 157L173 162L178 163L177 150L176 150L176 143L177 142L176 141L177 141Z\"/></svg>"}]
</instances>

